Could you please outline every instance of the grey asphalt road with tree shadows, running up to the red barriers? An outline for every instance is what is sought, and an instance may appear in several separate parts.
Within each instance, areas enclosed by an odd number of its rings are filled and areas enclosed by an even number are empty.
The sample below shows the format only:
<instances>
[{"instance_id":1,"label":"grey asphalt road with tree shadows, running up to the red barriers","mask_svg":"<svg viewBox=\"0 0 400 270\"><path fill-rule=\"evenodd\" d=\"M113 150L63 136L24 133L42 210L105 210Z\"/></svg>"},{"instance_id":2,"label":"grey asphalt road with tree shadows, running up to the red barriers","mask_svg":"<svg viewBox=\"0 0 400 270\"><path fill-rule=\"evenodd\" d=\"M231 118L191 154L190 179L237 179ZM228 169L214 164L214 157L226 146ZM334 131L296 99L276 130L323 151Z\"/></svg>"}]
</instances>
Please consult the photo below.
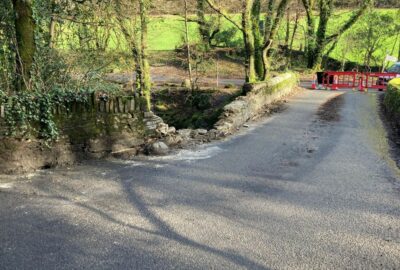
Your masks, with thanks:
<instances>
[{"instance_id":1,"label":"grey asphalt road with tree shadows, running up to the red barriers","mask_svg":"<svg viewBox=\"0 0 400 270\"><path fill-rule=\"evenodd\" d=\"M400 269L377 96L304 91L178 155L0 178L0 269Z\"/></svg>"}]
</instances>

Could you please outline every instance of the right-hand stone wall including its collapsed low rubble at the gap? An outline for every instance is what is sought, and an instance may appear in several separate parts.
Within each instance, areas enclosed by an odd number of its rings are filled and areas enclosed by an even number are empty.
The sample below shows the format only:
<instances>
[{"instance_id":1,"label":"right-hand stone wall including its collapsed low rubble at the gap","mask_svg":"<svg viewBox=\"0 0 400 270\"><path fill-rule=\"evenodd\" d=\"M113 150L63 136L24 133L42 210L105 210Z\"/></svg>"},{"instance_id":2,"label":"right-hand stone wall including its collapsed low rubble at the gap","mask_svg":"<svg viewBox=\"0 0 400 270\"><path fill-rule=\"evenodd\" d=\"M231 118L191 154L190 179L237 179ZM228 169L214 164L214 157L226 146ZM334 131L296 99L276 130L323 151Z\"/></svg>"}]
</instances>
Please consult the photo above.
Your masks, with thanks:
<instances>
[{"instance_id":1,"label":"right-hand stone wall including its collapsed low rubble at the gap","mask_svg":"<svg viewBox=\"0 0 400 270\"><path fill-rule=\"evenodd\" d=\"M298 85L298 78L293 73L286 73L272 78L268 82L247 84L244 96L224 107L224 110L211 130L181 129L169 127L157 116L149 115L148 127L155 131L148 144L148 152L166 154L168 147L182 148L188 145L207 143L235 133L249 120L264 115L268 107L290 95ZM151 142L153 144L151 144Z\"/></svg>"}]
</instances>

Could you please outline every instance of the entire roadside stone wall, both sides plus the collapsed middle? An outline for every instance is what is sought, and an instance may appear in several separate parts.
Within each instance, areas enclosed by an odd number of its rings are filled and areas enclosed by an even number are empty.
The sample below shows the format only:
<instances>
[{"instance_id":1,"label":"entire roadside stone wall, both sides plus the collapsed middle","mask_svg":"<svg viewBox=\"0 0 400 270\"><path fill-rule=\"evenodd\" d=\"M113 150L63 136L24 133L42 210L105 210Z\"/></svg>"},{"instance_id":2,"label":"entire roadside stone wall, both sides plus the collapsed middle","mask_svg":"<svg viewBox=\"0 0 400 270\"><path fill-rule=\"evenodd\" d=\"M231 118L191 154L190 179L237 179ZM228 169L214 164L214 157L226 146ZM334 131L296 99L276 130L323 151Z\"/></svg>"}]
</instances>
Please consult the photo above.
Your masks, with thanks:
<instances>
[{"instance_id":1,"label":"entire roadside stone wall, both sides plus the collapsed middle","mask_svg":"<svg viewBox=\"0 0 400 270\"><path fill-rule=\"evenodd\" d=\"M266 107L292 93L295 74L244 86L244 96L225 106L214 129L176 130L151 112L142 112L135 97L92 95L88 103L54 108L60 130L56 142L4 136L0 115L0 173L26 172L76 163L82 158L130 158L138 152L163 155L171 148L206 143L233 134ZM1 105L0 105L1 106Z\"/></svg>"}]
</instances>

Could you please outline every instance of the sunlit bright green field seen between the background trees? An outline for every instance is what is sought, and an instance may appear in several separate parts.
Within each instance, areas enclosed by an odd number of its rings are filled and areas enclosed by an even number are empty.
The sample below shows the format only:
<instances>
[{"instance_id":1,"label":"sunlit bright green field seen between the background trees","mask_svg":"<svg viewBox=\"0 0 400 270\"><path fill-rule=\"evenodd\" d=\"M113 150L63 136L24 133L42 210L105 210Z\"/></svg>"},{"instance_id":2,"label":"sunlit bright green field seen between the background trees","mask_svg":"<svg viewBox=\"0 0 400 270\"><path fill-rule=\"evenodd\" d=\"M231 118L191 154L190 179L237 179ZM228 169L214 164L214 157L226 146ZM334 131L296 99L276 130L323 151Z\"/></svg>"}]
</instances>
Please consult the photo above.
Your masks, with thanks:
<instances>
[{"instance_id":1,"label":"sunlit bright green field seen between the background trees","mask_svg":"<svg viewBox=\"0 0 400 270\"><path fill-rule=\"evenodd\" d=\"M394 18L396 20L397 9L379 9L378 12L380 14L386 14ZM351 16L351 10L341 10L334 14L332 20L329 23L328 33L332 33L334 30L338 29L342 26L346 20ZM240 16L236 15L236 20L240 21ZM396 21L395 21L396 22ZM364 61L364 53L360 53L359 45L360 41L354 41L353 37L356 35L354 32L362 27L365 20L359 21L352 29L350 29L343 37L340 39L337 47L330 54L330 57L342 62L351 61L355 63L362 64ZM400 24L399 19L397 19L397 24ZM225 35L229 37L229 44L221 44L224 46L237 46L240 47L242 44L242 36L241 33L235 29L235 27L228 22L227 20L221 18L222 30L220 35ZM73 25L67 27L67 29L63 30L63 34L59 38L58 47L62 50L71 51L73 50L73 44L77 43L78 40L76 35L74 35ZM290 29L293 29L293 23L290 25ZM304 50L305 47L305 29L306 22L305 18L300 19L300 27L298 28L297 34L294 40L294 49L295 50ZM157 55L161 51L173 51L177 47L182 46L183 44L183 32L184 30L184 22L183 18L180 16L174 15L165 15L165 16L153 16L150 20L149 24L149 50L152 55ZM196 42L199 40L199 35L197 31L197 24L190 23L189 24L189 32L190 32L190 40L191 42ZM382 31L383 33L385 31ZM281 24L281 28L278 34L278 42L279 44L284 43L286 33L286 23L283 22ZM112 32L111 38L108 41L108 46L106 48L107 52L112 53L128 53L126 42L117 32ZM397 32L384 33L381 37L379 37L380 43L379 47L373 55L373 62L371 64L380 65L383 61L383 58L387 53L394 53L397 56L400 37ZM329 46L328 46L329 47ZM74 50L73 50L74 51Z\"/></svg>"}]
</instances>

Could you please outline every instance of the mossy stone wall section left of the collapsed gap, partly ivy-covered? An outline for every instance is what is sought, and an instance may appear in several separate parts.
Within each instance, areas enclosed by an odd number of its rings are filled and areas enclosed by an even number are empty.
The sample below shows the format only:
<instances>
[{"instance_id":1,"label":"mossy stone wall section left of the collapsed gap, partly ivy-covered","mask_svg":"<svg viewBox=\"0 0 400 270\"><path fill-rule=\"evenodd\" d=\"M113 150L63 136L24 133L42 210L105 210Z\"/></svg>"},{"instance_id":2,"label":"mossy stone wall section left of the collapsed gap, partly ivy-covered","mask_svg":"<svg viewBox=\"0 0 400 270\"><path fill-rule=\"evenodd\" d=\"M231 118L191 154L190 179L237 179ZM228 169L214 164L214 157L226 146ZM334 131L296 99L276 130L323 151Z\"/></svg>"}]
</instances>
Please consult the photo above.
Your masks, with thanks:
<instances>
[{"instance_id":1,"label":"mossy stone wall section left of the collapsed gap, partly ivy-covered","mask_svg":"<svg viewBox=\"0 0 400 270\"><path fill-rule=\"evenodd\" d=\"M84 158L136 155L145 143L146 128L135 97L93 94L88 100L53 108L60 133L55 142L45 142L35 136L5 136L7 127L2 109L0 173L68 165Z\"/></svg>"}]
</instances>

